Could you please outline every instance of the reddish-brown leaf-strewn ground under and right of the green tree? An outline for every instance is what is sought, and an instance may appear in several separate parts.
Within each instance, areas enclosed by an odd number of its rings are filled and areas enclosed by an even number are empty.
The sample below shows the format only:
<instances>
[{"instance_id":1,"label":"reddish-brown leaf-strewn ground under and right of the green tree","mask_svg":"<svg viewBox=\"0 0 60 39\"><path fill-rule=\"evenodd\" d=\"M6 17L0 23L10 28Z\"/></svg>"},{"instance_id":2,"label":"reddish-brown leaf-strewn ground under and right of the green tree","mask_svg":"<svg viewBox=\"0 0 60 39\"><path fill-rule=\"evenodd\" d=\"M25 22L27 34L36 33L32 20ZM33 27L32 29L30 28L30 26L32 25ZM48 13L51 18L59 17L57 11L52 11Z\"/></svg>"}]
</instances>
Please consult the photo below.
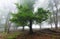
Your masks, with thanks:
<instances>
[{"instance_id":1,"label":"reddish-brown leaf-strewn ground under and right of the green tree","mask_svg":"<svg viewBox=\"0 0 60 39\"><path fill-rule=\"evenodd\" d=\"M18 35L16 39L60 39L60 32L51 29L43 29L33 34L24 32L24 34Z\"/></svg>"}]
</instances>

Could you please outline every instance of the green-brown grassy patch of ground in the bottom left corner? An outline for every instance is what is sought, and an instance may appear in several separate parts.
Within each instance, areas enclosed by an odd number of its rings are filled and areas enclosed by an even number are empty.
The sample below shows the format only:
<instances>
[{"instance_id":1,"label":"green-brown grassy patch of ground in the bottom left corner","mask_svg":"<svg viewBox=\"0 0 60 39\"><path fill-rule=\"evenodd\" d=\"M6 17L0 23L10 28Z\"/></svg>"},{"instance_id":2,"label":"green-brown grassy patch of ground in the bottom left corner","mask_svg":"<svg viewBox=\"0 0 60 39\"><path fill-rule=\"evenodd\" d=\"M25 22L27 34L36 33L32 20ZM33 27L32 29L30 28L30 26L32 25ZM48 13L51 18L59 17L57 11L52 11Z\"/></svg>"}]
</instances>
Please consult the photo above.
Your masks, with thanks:
<instances>
[{"instance_id":1,"label":"green-brown grassy patch of ground in the bottom left corner","mask_svg":"<svg viewBox=\"0 0 60 39\"><path fill-rule=\"evenodd\" d=\"M15 39L18 35L20 35L21 32L0 32L0 39Z\"/></svg>"}]
</instances>

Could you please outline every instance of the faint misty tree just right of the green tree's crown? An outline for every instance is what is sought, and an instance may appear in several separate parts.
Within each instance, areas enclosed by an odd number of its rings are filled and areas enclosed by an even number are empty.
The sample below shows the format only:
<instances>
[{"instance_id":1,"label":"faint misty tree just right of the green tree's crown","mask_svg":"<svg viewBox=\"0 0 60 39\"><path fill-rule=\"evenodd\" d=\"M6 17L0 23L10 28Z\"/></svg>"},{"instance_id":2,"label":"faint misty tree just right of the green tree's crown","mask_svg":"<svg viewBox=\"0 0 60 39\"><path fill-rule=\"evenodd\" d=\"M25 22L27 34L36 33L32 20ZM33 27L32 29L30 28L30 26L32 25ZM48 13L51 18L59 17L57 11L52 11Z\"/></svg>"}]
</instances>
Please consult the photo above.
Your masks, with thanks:
<instances>
[{"instance_id":1,"label":"faint misty tree just right of the green tree's crown","mask_svg":"<svg viewBox=\"0 0 60 39\"><path fill-rule=\"evenodd\" d=\"M48 24L51 25L51 28L52 28L52 23L55 22L55 17L54 17L54 10L53 10L53 4L52 4L52 0L49 0L49 4L48 4L48 9L51 11L51 14L50 14L50 17L49 17L49 20L48 20ZM52 17L53 15L53 17ZM54 20L53 20L54 19Z\"/></svg>"}]
</instances>

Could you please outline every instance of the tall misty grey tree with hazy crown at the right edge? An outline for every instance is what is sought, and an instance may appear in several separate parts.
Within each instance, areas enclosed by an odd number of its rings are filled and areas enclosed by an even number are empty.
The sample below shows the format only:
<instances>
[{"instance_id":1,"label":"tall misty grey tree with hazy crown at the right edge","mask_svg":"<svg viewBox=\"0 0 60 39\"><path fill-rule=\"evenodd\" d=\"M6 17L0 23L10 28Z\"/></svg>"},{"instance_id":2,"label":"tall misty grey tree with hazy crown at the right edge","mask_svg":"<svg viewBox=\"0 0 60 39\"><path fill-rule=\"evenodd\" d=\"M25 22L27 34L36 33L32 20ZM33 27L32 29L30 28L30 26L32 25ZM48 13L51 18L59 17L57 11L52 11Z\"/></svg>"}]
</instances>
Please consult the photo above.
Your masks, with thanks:
<instances>
[{"instance_id":1,"label":"tall misty grey tree with hazy crown at the right edge","mask_svg":"<svg viewBox=\"0 0 60 39\"><path fill-rule=\"evenodd\" d=\"M52 10L53 12L53 18L54 18L54 24L55 24L55 28L57 29L58 27L58 5L59 5L60 1L59 0L49 0L49 8ZM54 10L56 9L56 10Z\"/></svg>"}]
</instances>

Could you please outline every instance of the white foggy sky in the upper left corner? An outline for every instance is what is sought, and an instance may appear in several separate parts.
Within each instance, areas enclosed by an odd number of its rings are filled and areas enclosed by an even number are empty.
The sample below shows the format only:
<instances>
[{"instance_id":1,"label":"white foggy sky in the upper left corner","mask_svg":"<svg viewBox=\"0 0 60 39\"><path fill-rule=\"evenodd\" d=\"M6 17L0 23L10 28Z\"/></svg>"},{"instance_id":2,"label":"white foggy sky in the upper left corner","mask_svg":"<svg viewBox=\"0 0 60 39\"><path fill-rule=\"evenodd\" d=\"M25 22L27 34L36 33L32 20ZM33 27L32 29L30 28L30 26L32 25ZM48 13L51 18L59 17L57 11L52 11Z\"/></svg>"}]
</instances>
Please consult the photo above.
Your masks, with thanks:
<instances>
[{"instance_id":1,"label":"white foggy sky in the upper left corner","mask_svg":"<svg viewBox=\"0 0 60 39\"><path fill-rule=\"evenodd\" d=\"M14 3L16 3L17 0L0 0L0 20L1 23L5 22L5 18L9 11L15 11L16 6ZM3 22L2 22L3 21Z\"/></svg>"}]
</instances>

